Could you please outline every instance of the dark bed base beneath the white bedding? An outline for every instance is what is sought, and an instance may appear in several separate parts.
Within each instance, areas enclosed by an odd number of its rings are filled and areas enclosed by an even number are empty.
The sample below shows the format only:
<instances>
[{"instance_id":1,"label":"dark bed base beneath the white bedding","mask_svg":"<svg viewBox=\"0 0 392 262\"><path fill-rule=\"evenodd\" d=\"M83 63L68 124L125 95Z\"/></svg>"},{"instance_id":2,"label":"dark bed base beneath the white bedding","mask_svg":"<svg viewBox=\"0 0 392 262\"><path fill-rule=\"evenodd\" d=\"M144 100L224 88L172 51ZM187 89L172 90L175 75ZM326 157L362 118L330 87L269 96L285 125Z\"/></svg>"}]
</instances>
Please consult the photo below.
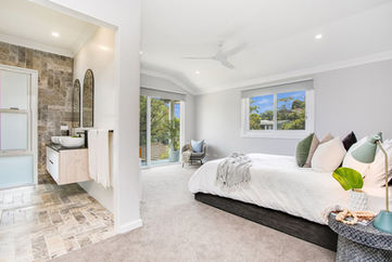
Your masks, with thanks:
<instances>
[{"instance_id":1,"label":"dark bed base beneath the white bedding","mask_svg":"<svg viewBox=\"0 0 392 262\"><path fill-rule=\"evenodd\" d=\"M262 208L226 197L197 193L194 198L229 213L337 251L338 235L328 225L317 224L281 211Z\"/></svg>"}]
</instances>

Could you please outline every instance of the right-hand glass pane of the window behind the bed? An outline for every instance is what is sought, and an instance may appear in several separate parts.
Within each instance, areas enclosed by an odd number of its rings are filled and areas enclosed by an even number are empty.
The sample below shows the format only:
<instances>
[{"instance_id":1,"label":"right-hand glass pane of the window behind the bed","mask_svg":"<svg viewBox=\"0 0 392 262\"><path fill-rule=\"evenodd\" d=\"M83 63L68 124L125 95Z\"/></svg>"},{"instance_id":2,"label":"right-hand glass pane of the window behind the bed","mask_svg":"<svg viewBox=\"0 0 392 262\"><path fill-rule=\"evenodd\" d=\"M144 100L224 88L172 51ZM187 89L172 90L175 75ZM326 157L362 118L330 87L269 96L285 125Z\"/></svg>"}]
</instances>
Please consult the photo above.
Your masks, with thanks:
<instances>
[{"instance_id":1,"label":"right-hand glass pane of the window behind the bed","mask_svg":"<svg viewBox=\"0 0 392 262\"><path fill-rule=\"evenodd\" d=\"M305 130L305 91L280 93L278 130Z\"/></svg>"}]
</instances>

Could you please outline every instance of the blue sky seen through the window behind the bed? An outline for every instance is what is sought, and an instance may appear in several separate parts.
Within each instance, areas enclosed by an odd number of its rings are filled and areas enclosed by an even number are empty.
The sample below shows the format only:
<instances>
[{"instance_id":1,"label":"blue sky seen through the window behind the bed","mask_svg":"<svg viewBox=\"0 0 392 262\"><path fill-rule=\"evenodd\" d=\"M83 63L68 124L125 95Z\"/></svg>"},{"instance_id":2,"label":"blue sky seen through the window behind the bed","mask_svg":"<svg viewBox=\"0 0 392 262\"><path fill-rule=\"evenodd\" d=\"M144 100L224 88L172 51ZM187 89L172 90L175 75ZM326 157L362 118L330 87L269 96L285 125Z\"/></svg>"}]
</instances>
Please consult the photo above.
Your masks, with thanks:
<instances>
[{"instance_id":1,"label":"blue sky seen through the window behind the bed","mask_svg":"<svg viewBox=\"0 0 392 262\"><path fill-rule=\"evenodd\" d=\"M289 96L293 97L294 100L305 101L305 91L279 93L277 99L279 101L280 99L284 99ZM258 114L274 109L274 94L253 96L252 100L253 100L252 105L256 105L258 107ZM280 106L281 103L284 102L278 103L278 106ZM291 105L292 102L286 104L286 106L289 109L291 108Z\"/></svg>"}]
</instances>

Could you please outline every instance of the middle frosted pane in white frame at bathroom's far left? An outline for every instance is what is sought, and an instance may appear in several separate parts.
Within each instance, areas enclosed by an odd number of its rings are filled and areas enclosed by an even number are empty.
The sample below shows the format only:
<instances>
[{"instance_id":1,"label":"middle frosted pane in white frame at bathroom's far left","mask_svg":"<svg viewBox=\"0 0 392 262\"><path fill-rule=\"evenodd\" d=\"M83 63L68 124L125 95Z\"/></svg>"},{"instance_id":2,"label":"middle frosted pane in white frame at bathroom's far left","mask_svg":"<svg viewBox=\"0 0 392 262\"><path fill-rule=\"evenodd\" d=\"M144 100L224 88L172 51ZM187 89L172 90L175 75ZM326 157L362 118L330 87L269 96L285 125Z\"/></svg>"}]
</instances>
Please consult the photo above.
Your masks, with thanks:
<instances>
[{"instance_id":1,"label":"middle frosted pane in white frame at bathroom's far left","mask_svg":"<svg viewBox=\"0 0 392 262\"><path fill-rule=\"evenodd\" d=\"M27 149L27 114L0 113L0 149Z\"/></svg>"}]
</instances>

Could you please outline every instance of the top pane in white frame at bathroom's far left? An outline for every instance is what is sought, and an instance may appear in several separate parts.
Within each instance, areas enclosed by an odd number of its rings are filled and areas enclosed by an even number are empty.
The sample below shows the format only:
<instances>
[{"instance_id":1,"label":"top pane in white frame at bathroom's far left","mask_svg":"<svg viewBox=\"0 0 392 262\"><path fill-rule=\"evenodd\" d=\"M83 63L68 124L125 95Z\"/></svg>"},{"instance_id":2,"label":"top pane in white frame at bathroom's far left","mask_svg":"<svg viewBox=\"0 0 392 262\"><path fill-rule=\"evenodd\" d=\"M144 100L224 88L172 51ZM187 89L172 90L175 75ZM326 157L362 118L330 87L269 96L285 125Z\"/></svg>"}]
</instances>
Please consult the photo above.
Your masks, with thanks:
<instances>
[{"instance_id":1,"label":"top pane in white frame at bathroom's far left","mask_svg":"<svg viewBox=\"0 0 392 262\"><path fill-rule=\"evenodd\" d=\"M28 79L25 74L0 71L0 108L27 109Z\"/></svg>"}]
</instances>

